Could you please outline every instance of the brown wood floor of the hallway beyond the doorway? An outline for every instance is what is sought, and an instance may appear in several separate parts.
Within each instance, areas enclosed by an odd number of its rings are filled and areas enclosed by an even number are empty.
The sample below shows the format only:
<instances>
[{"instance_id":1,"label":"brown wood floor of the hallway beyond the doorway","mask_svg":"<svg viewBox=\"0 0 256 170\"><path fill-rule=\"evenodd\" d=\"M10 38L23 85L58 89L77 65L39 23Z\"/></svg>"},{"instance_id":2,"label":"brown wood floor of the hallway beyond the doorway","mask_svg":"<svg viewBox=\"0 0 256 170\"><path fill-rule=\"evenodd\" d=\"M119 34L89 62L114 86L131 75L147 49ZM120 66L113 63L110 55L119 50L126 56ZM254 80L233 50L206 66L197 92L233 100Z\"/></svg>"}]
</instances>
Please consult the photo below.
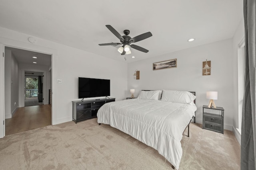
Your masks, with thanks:
<instances>
[{"instance_id":1,"label":"brown wood floor of the hallway beyond the doorway","mask_svg":"<svg viewBox=\"0 0 256 170\"><path fill-rule=\"evenodd\" d=\"M5 119L5 135L11 135L52 124L52 107L38 105L19 107L10 119Z\"/></svg>"}]
</instances>

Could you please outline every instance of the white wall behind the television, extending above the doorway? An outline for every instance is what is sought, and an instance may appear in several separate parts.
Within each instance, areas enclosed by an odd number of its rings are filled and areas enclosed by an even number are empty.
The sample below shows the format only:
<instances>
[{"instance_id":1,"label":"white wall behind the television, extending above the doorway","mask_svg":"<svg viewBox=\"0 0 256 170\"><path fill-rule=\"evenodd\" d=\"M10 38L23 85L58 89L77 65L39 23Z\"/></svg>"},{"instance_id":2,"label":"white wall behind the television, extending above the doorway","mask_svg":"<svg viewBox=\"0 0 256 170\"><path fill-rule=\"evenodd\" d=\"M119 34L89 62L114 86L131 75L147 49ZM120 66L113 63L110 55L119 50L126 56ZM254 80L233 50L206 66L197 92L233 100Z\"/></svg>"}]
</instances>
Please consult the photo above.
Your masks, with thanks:
<instances>
[{"instance_id":1,"label":"white wall behind the television, extending above the doorway","mask_svg":"<svg viewBox=\"0 0 256 170\"><path fill-rule=\"evenodd\" d=\"M0 27L0 43L52 54L52 124L72 120L71 101L78 100L79 76L110 79L111 97L126 98L126 63L40 38L31 44L28 37L32 36ZM62 83L57 83L57 79L62 79Z\"/></svg>"}]
</instances>

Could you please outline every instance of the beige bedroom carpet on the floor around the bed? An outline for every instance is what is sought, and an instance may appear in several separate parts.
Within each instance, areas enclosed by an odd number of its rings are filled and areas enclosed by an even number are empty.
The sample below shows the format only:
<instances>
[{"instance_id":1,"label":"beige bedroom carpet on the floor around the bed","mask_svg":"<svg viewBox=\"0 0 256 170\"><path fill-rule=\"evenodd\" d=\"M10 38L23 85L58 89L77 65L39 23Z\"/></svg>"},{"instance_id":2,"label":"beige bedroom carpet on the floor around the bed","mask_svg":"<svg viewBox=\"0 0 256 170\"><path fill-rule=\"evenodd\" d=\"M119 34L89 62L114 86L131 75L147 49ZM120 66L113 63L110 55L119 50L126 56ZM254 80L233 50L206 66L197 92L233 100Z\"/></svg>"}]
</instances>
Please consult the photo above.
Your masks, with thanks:
<instances>
[{"instance_id":1,"label":"beige bedroom carpet on the floor around the bed","mask_svg":"<svg viewBox=\"0 0 256 170\"><path fill-rule=\"evenodd\" d=\"M180 170L240 169L240 145L224 135L191 123L182 138ZM186 134L186 132L184 133ZM163 156L140 141L97 119L73 121L0 139L0 169L171 169Z\"/></svg>"}]
</instances>

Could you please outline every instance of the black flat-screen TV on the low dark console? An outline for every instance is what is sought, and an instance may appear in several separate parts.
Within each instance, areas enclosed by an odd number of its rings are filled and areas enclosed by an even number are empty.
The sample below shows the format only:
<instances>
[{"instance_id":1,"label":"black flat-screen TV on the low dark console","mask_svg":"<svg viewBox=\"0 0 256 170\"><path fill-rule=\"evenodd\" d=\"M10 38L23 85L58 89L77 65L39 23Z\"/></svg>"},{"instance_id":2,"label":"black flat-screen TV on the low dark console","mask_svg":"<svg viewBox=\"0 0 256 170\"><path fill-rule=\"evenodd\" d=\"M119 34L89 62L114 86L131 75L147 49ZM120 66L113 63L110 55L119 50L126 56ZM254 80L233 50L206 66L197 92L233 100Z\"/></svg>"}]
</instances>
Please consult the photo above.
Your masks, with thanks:
<instances>
[{"instance_id":1,"label":"black flat-screen TV on the low dark console","mask_svg":"<svg viewBox=\"0 0 256 170\"><path fill-rule=\"evenodd\" d=\"M110 96L110 80L78 77L78 98Z\"/></svg>"}]
</instances>

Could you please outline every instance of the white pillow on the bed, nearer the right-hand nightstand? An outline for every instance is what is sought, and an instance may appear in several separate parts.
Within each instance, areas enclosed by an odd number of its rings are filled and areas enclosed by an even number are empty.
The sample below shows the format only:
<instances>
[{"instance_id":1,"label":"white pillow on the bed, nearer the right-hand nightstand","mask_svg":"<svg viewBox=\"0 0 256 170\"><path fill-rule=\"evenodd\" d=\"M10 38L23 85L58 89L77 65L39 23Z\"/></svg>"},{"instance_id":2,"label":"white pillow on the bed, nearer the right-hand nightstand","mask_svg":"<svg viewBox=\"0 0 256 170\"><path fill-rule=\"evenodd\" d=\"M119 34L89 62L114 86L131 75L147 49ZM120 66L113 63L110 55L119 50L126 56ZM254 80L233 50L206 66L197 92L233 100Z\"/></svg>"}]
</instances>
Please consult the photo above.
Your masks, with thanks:
<instances>
[{"instance_id":1,"label":"white pillow on the bed, nearer the right-hand nightstand","mask_svg":"<svg viewBox=\"0 0 256 170\"><path fill-rule=\"evenodd\" d=\"M161 101L190 104L195 99L196 96L187 91L163 90Z\"/></svg>"}]
</instances>

